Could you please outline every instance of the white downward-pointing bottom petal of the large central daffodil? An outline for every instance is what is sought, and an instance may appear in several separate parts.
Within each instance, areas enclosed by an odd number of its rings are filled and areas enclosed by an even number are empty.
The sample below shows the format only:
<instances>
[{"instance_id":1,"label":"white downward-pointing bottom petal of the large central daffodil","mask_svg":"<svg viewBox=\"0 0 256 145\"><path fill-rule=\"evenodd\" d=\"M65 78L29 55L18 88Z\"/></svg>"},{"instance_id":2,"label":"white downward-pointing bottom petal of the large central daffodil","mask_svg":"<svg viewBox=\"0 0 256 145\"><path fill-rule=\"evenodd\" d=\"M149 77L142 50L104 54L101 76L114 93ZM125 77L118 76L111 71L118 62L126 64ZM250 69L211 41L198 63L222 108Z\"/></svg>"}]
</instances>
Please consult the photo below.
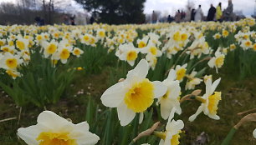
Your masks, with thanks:
<instances>
[{"instance_id":1,"label":"white downward-pointing bottom petal of the large central daffodil","mask_svg":"<svg viewBox=\"0 0 256 145\"><path fill-rule=\"evenodd\" d=\"M129 109L125 103L121 103L120 106L117 107L117 114L121 126L128 125L136 116L136 112L133 112L131 109Z\"/></svg>"}]
</instances>

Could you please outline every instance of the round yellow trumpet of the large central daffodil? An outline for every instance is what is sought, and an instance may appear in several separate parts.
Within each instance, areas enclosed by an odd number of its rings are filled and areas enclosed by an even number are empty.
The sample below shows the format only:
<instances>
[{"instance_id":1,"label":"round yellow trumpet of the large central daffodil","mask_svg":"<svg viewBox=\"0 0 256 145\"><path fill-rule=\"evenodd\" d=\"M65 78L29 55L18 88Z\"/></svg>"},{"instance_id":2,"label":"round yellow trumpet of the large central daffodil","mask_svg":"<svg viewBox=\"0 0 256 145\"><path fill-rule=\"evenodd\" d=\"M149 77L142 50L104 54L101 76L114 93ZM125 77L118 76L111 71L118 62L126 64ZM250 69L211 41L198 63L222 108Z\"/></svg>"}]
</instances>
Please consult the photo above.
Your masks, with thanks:
<instances>
[{"instance_id":1,"label":"round yellow trumpet of the large central daffodil","mask_svg":"<svg viewBox=\"0 0 256 145\"><path fill-rule=\"evenodd\" d=\"M144 112L154 102L154 85L147 78L136 82L125 93L125 104L134 112Z\"/></svg>"}]
</instances>

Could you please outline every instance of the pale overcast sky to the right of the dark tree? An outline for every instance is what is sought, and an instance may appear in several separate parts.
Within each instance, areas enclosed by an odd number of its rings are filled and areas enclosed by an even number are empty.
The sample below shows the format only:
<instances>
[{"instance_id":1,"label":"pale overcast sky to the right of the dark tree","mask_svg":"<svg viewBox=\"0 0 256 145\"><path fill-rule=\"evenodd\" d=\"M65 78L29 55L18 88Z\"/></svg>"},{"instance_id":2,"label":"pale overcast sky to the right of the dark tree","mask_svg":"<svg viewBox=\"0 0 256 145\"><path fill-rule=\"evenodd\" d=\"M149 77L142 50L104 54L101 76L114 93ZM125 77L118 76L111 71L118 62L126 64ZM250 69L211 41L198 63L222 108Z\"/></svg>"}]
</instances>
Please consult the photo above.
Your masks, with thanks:
<instances>
[{"instance_id":1,"label":"pale overcast sky to the right of the dark tree","mask_svg":"<svg viewBox=\"0 0 256 145\"><path fill-rule=\"evenodd\" d=\"M223 8L228 7L228 0L190 0L190 2L193 2L196 8L201 4L205 15L211 3L216 7L218 2L222 2ZM248 16L254 13L254 3L254 0L233 0L233 8L234 11L242 10L243 14ZM186 5L187 0L146 0L144 13L157 10L161 13L174 14L178 9L184 9Z\"/></svg>"}]
</instances>

